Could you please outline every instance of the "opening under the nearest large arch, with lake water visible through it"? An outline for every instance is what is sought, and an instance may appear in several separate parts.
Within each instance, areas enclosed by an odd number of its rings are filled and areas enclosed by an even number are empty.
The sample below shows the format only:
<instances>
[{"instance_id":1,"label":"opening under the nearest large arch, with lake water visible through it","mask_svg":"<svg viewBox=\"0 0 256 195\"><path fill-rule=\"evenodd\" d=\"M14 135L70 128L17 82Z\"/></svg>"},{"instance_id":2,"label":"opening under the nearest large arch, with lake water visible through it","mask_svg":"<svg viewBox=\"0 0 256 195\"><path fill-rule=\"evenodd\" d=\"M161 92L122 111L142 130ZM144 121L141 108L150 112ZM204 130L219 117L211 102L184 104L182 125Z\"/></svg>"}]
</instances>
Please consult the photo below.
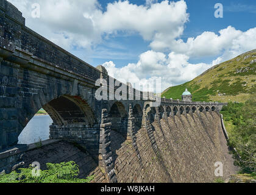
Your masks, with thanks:
<instances>
[{"instance_id":1,"label":"opening under the nearest large arch, with lake water visible through it","mask_svg":"<svg viewBox=\"0 0 256 195\"><path fill-rule=\"evenodd\" d=\"M74 124L83 124L84 127L90 128L96 123L96 118L82 98L60 96L43 105L34 117L26 118L26 121L26 127L18 137L19 144L31 144L49 138L59 139L64 137L60 135L60 127L71 130Z\"/></svg>"}]
</instances>

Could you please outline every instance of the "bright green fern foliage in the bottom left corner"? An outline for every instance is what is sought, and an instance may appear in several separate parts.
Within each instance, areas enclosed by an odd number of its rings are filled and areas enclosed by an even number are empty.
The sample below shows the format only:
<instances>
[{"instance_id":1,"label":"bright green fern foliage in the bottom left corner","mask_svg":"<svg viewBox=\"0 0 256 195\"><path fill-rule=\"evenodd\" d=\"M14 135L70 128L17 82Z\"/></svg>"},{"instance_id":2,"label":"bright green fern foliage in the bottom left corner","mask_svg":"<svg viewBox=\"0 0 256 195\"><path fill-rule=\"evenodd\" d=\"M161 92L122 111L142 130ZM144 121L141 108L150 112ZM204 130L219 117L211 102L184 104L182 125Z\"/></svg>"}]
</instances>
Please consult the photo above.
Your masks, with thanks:
<instances>
[{"instance_id":1,"label":"bright green fern foliage in the bottom left corner","mask_svg":"<svg viewBox=\"0 0 256 195\"><path fill-rule=\"evenodd\" d=\"M30 165L29 168L20 168L19 172L0 175L0 183L89 183L93 176L86 179L78 179L79 166L74 161L67 163L47 163L46 170L36 170ZM39 171L39 176L33 172Z\"/></svg>"}]
</instances>

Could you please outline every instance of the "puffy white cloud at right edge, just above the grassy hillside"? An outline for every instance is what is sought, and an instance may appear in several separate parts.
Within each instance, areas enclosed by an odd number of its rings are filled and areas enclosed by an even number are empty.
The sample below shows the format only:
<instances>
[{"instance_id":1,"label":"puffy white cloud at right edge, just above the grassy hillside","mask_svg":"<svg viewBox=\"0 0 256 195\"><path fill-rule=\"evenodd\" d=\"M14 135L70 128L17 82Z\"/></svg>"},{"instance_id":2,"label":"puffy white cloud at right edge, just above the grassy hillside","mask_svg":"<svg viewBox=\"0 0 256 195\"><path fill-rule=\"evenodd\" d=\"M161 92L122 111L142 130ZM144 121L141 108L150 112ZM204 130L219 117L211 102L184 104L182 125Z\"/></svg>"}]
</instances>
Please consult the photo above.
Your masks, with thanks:
<instances>
[{"instance_id":1,"label":"puffy white cloud at right edge, just above the grassy hillside","mask_svg":"<svg viewBox=\"0 0 256 195\"><path fill-rule=\"evenodd\" d=\"M216 59L215 63L229 60L243 52L255 49L255 45L256 27L242 32L232 26L219 30L219 35L206 31L196 38L188 38L186 42L179 39L162 44L163 47L167 47L171 51L186 54L190 57L214 57L221 55L221 57Z\"/></svg>"}]
</instances>

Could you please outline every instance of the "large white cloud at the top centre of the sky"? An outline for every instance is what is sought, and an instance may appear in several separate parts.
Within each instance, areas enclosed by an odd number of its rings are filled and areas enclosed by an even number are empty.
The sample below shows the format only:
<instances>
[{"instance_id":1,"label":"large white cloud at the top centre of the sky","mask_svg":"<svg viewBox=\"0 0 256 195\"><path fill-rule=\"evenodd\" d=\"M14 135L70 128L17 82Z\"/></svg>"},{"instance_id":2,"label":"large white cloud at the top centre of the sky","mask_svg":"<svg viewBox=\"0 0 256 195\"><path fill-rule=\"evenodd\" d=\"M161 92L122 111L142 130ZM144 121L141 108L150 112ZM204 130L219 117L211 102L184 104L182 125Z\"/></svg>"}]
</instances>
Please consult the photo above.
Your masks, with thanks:
<instances>
[{"instance_id":1,"label":"large white cloud at the top centre of the sky","mask_svg":"<svg viewBox=\"0 0 256 195\"><path fill-rule=\"evenodd\" d=\"M115 30L132 30L138 32L144 40L158 37L179 37L183 24L188 19L187 4L184 1L144 5L118 1L107 5L107 11L96 18L101 32L113 33Z\"/></svg>"}]
</instances>

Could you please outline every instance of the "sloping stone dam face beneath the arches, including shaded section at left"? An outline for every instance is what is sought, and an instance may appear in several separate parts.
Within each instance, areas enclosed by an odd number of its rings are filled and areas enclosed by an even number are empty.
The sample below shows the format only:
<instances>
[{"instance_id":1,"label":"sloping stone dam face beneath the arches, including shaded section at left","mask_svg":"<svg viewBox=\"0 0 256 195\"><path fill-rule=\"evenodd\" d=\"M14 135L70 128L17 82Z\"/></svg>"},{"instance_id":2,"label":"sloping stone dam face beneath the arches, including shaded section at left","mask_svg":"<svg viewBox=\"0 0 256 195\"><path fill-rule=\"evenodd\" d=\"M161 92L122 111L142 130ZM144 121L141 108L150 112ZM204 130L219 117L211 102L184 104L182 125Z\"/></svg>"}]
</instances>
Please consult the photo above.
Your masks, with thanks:
<instances>
[{"instance_id":1,"label":"sloping stone dam face beneath the arches, including shaded section at left","mask_svg":"<svg viewBox=\"0 0 256 195\"><path fill-rule=\"evenodd\" d=\"M128 140L120 132L111 130L110 148L116 182L214 182L216 162L223 165L224 179L237 171L217 112L162 119L157 112L154 121L143 115L142 127L133 138L133 141ZM71 160L79 165L79 177L94 175L93 182L108 182L104 169L90 153L66 141L23 152L23 163L16 168L38 161L41 169L45 169L48 162Z\"/></svg>"}]
</instances>

